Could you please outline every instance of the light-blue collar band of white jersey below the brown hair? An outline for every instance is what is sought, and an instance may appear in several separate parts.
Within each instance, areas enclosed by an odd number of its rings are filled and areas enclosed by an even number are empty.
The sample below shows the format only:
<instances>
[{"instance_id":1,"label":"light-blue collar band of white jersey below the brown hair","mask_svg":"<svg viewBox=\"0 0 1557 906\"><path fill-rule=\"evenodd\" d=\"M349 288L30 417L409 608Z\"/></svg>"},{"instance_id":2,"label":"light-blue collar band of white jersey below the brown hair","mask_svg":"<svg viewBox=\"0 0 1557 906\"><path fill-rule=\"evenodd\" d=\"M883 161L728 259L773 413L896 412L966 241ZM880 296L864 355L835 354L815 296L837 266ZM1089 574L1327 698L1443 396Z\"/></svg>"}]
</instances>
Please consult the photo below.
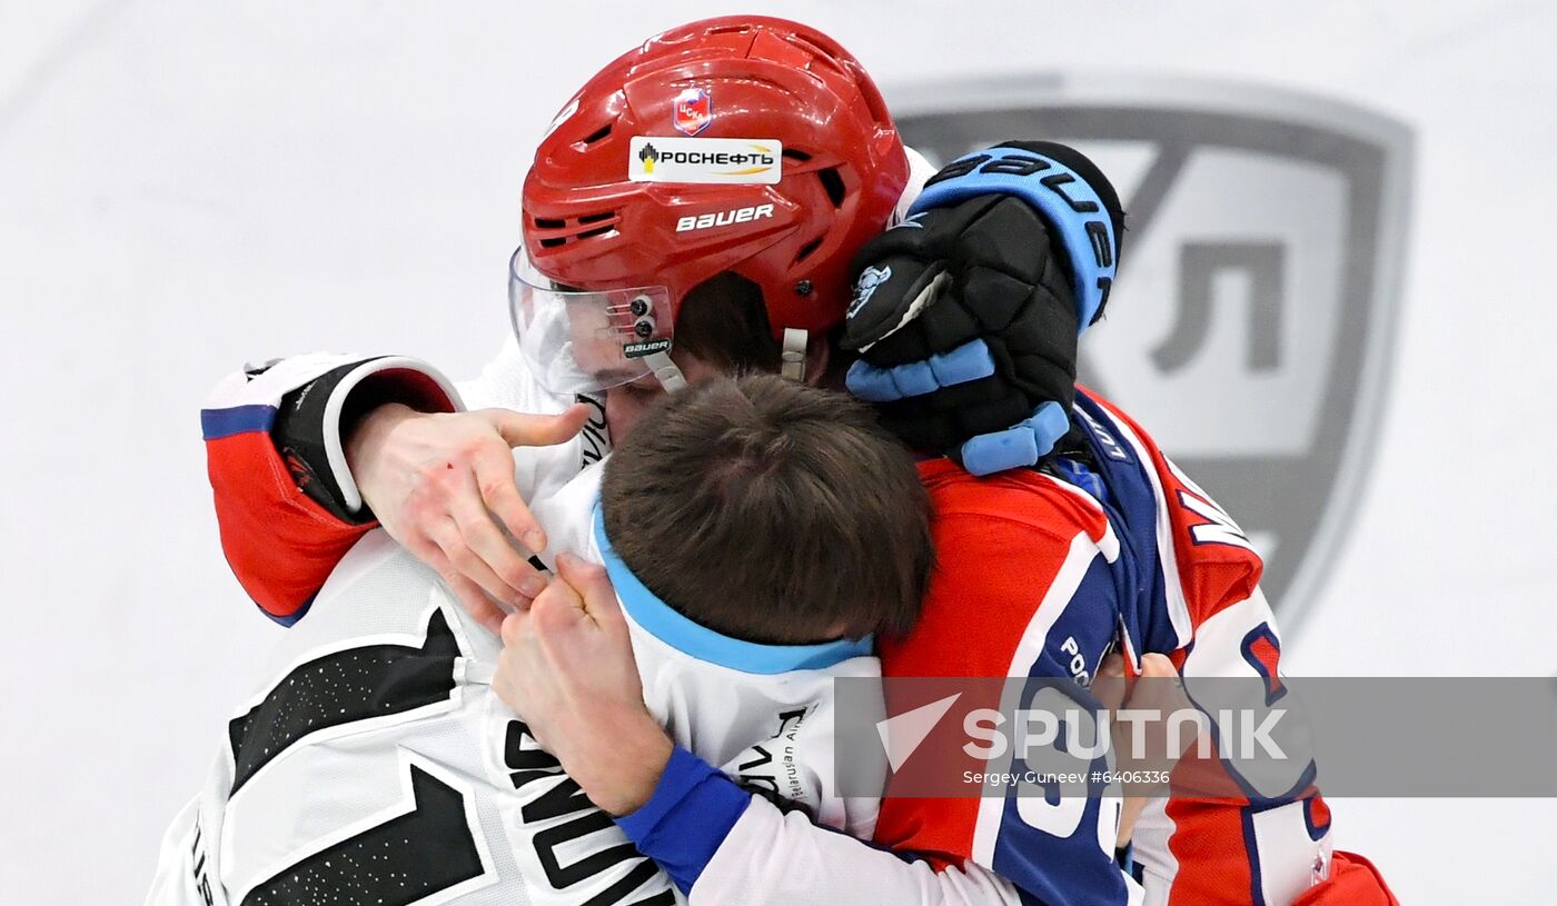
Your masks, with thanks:
<instances>
[{"instance_id":1,"label":"light-blue collar band of white jersey below the brown hair","mask_svg":"<svg viewBox=\"0 0 1557 906\"><path fill-rule=\"evenodd\" d=\"M606 571L610 574L610 584L617 587L617 598L621 599L623 609L655 638L698 660L741 672L775 674L794 669L827 669L852 657L869 657L875 651L875 637L872 635L839 638L821 644L761 644L721 635L682 616L632 574L627 564L621 562L621 557L612 550L610 539L606 537L606 520L598 504L595 506L595 540L599 543L601 559L606 560Z\"/></svg>"}]
</instances>

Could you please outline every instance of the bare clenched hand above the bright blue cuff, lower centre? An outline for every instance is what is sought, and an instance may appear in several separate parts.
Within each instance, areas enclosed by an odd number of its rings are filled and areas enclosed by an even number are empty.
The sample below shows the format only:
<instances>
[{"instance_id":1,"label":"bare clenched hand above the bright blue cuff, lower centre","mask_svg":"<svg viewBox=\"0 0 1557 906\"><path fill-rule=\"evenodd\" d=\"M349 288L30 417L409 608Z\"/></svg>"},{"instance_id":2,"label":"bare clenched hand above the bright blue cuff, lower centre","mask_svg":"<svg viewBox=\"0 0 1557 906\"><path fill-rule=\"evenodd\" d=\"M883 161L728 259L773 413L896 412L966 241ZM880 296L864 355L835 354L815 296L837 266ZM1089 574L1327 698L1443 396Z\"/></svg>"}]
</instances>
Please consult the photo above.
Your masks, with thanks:
<instances>
[{"instance_id":1,"label":"bare clenched hand above the bright blue cuff, lower centre","mask_svg":"<svg viewBox=\"0 0 1557 906\"><path fill-rule=\"evenodd\" d=\"M673 744L643 704L604 567L557 557L557 578L503 621L492 688L599 808L627 814L654 794Z\"/></svg>"}]
</instances>

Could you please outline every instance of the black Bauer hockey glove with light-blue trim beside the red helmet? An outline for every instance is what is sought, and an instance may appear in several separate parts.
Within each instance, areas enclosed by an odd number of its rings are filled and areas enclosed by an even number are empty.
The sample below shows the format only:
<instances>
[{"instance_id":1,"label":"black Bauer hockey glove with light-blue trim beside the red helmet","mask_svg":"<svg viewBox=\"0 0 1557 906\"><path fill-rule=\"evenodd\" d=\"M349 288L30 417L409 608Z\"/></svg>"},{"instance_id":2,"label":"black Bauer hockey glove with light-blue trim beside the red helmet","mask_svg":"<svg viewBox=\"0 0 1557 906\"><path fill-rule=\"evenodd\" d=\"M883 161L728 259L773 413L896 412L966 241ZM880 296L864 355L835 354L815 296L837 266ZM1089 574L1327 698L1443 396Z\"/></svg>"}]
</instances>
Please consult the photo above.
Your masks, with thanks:
<instances>
[{"instance_id":1,"label":"black Bauer hockey glove with light-blue trim beside the red helmet","mask_svg":"<svg viewBox=\"0 0 1557 906\"><path fill-rule=\"evenodd\" d=\"M1070 430L1076 341L1109 300L1123 216L1073 148L958 159L855 258L850 392L976 475L1039 462Z\"/></svg>"}]
</instances>

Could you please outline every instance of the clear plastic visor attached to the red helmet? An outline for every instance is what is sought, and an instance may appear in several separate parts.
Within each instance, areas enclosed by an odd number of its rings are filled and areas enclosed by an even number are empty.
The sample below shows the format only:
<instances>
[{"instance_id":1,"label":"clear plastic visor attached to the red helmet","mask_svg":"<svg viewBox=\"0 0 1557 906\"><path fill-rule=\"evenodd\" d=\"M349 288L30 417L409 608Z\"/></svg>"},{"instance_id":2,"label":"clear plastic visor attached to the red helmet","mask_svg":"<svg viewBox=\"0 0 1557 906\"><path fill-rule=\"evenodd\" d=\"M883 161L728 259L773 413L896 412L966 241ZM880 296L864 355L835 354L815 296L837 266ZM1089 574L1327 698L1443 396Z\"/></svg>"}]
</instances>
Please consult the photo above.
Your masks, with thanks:
<instances>
[{"instance_id":1,"label":"clear plastic visor attached to the red helmet","mask_svg":"<svg viewBox=\"0 0 1557 906\"><path fill-rule=\"evenodd\" d=\"M529 374L553 394L596 394L668 364L674 318L665 286L557 290L520 248L508 308Z\"/></svg>"}]
</instances>

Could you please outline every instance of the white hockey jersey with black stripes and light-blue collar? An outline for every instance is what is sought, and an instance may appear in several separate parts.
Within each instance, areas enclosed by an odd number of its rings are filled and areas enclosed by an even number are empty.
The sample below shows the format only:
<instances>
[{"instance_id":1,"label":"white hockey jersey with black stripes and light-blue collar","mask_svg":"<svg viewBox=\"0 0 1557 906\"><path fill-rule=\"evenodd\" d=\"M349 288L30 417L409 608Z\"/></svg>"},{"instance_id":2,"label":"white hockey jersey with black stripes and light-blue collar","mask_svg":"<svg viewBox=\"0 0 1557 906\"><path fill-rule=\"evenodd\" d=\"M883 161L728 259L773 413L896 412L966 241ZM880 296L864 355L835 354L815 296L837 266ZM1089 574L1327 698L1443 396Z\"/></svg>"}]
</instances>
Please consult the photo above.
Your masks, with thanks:
<instances>
[{"instance_id":1,"label":"white hockey jersey with black stripes and light-blue collar","mask_svg":"<svg viewBox=\"0 0 1557 906\"><path fill-rule=\"evenodd\" d=\"M755 792L869 838L877 802L827 792L831 679L877 676L869 641L752 644L687 621L610 554L598 476L537 517L557 550L607 564L651 710ZM229 722L148 904L679 901L492 693L498 649L436 573L364 537Z\"/></svg>"}]
</instances>

